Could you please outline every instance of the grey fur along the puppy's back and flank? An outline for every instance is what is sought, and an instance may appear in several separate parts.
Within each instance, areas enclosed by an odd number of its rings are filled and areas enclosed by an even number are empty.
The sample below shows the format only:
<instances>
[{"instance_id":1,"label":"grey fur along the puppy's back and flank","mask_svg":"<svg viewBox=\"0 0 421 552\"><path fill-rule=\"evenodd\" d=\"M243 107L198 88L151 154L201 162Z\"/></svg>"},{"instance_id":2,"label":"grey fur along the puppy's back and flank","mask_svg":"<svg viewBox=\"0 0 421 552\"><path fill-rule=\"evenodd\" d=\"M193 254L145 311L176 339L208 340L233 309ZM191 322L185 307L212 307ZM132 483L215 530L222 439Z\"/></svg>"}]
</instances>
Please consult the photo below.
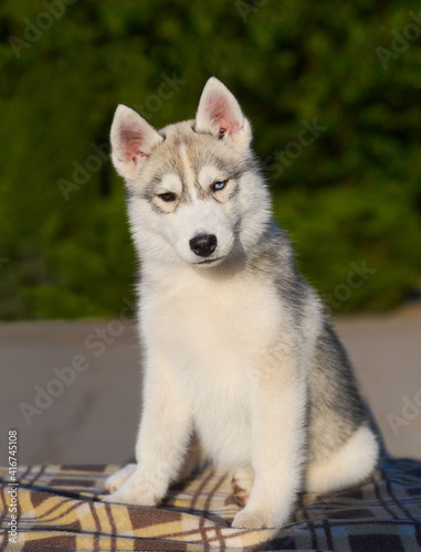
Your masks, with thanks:
<instances>
[{"instance_id":1,"label":"grey fur along the puppy's back and flank","mask_svg":"<svg viewBox=\"0 0 421 552\"><path fill-rule=\"evenodd\" d=\"M259 270L263 278L273 280L280 299L303 331L306 307L318 299L295 266L291 241L271 221L253 253L249 269ZM304 331L303 339L306 339ZM308 459L313 461L325 458L360 425L368 423L368 413L346 350L325 312L309 357L307 426Z\"/></svg>"}]
</instances>

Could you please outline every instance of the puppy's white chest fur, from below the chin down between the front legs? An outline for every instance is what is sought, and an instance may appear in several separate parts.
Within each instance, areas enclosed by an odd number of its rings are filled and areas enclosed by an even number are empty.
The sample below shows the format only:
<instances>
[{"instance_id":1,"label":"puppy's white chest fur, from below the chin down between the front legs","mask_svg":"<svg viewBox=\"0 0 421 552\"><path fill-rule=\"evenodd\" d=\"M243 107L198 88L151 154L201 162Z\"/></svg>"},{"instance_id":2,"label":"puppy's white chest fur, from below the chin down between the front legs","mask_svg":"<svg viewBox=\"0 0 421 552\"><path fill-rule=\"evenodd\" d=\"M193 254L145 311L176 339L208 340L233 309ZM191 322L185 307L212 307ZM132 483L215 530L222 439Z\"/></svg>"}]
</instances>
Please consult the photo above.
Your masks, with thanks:
<instances>
[{"instance_id":1,"label":"puppy's white chest fur, from below the chin down between the front legs","mask_svg":"<svg viewBox=\"0 0 421 552\"><path fill-rule=\"evenodd\" d=\"M275 339L274 290L180 273L147 282L140 297L143 340L173 370L204 449L220 466L250 461L248 385Z\"/></svg>"}]
</instances>

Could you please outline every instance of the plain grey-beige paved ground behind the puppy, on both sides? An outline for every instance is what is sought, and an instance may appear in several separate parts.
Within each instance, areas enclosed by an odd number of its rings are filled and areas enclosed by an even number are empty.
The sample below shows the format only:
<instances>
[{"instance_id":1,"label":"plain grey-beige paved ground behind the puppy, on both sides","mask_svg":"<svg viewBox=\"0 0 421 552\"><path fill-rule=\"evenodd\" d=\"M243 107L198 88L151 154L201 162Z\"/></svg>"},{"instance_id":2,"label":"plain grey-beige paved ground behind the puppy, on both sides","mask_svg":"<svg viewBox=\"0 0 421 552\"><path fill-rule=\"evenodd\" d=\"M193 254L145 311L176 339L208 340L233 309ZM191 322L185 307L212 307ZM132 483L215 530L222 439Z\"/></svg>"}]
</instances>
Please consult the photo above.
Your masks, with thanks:
<instances>
[{"instance_id":1,"label":"plain grey-beige paved ground behind the puppy, on both sides","mask_svg":"<svg viewBox=\"0 0 421 552\"><path fill-rule=\"evenodd\" d=\"M421 304L336 320L394 456L421 459ZM0 323L0 465L124 463L140 405L139 346L126 319Z\"/></svg>"}]
</instances>

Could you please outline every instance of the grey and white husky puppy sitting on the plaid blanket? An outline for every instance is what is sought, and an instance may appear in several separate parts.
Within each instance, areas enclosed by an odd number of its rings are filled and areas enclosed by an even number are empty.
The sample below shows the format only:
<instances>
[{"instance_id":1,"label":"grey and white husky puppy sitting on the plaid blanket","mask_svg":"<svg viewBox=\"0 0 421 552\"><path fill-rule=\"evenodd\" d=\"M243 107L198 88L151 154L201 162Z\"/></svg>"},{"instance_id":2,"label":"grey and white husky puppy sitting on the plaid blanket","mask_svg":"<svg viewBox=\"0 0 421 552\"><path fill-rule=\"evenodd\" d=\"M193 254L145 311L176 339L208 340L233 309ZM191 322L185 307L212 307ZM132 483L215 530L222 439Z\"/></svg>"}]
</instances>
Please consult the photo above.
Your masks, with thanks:
<instances>
[{"instance_id":1,"label":"grey and white husky puppy sitting on the plaid blanket","mask_svg":"<svg viewBox=\"0 0 421 552\"><path fill-rule=\"evenodd\" d=\"M235 97L212 77L196 119L161 130L119 105L110 140L140 258L145 354L137 464L108 478L105 500L157 505L206 458L250 497L232 527L275 528L298 491L364 481L378 443L272 220Z\"/></svg>"}]
</instances>

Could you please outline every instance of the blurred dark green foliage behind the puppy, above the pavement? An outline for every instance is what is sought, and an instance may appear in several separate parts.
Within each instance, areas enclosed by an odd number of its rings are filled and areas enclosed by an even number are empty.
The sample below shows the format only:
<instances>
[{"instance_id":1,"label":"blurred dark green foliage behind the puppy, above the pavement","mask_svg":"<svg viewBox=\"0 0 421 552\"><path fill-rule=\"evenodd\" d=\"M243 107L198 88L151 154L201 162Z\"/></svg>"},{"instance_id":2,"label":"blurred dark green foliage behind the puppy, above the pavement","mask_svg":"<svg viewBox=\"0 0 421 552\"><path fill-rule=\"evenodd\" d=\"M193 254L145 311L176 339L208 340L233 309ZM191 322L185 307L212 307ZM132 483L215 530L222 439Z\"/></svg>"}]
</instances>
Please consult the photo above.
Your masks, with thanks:
<instances>
[{"instance_id":1,"label":"blurred dark green foliage behind the puppy, above the pavement","mask_svg":"<svg viewBox=\"0 0 421 552\"><path fill-rule=\"evenodd\" d=\"M64 13L40 31L48 6ZM113 112L130 105L157 127L191 118L210 75L253 121L276 217L307 278L335 296L350 264L366 262L376 272L339 311L399 304L421 273L421 36L404 38L418 24L411 10L370 0L3 0L0 318L110 316L133 298L124 190L105 155ZM303 129L315 120L323 130L311 140Z\"/></svg>"}]
</instances>

